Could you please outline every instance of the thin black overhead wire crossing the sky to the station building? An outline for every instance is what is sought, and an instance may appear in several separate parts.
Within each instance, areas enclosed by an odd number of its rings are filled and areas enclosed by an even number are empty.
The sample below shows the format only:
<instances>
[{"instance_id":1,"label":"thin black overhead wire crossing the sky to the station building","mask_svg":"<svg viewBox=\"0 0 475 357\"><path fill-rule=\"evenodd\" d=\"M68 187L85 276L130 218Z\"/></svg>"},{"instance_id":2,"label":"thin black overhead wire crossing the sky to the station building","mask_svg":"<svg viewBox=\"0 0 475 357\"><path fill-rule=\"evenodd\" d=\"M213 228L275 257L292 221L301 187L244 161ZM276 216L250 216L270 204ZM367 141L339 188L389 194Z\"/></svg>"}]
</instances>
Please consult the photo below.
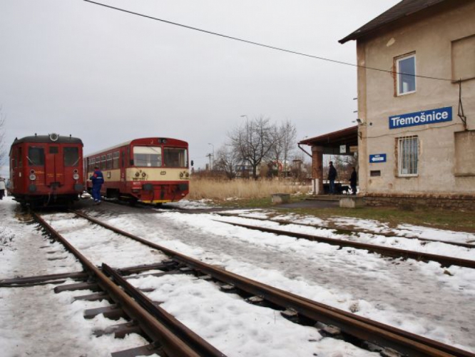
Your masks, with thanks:
<instances>
[{"instance_id":1,"label":"thin black overhead wire crossing the sky to the station building","mask_svg":"<svg viewBox=\"0 0 475 357\"><path fill-rule=\"evenodd\" d=\"M249 41L249 40L245 40L245 39L239 39L239 38L233 37L233 36L228 36L228 35L224 35L224 34L218 34L217 32L213 32L213 31L198 29L197 27L193 27L193 26L178 24L178 23L173 22L173 21L158 19L158 18L153 17L153 16L148 16L148 15L144 15L144 14L138 14L137 12L128 11L128 10L126 10L126 9L120 9L120 8L118 8L118 7L115 7L115 6L110 6L110 5L106 5L106 4L101 4L101 3L98 3L98 2L96 2L96 1L91 1L91 0L83 0L83 1L86 1L86 2L91 3L91 4L96 4L96 5L99 5L99 6L104 6L104 7L107 7L108 9L113 9L113 10L117 10L117 11L126 12L127 14L132 14L132 15L136 15L136 16L142 16L142 17L145 17L145 18L147 18L147 19L156 20L156 21L161 21L161 22L164 22L165 24L180 26L180 27L183 27L183 28L185 28L185 29L190 29L190 30L194 30L194 31L200 31L200 32L204 32L205 34L210 34L210 35L215 35L215 36L224 37L225 39L231 39L231 40L235 40L235 41L245 42L246 44L252 44L252 45L255 45L255 46L261 46L261 47L265 47L265 48L267 48L267 49L275 49L275 50L277 50L277 51L287 52L287 53L289 53L289 54L297 54L297 55L299 55L299 56L310 57L310 58L312 58L312 59L320 59L321 61L328 61L328 62L332 62L332 63L334 63L334 64L343 64L343 65L345 65L345 66L353 66L353 67L362 68L362 69L371 69L372 71L386 72L386 73L389 73L389 74L402 74L402 75L404 75L404 76L413 76L413 77L418 77L418 78L434 79L434 80L436 80L436 81L452 81L451 79L438 78L438 77L431 77L431 76L421 76L421 75L419 75L419 74L407 74L407 73L402 73L402 72L388 71L387 69L377 69L377 68L374 68L374 67L361 66L361 65L359 65L359 64L350 64L350 63L344 62L344 61L337 61L336 59L327 59L327 58L325 58L325 57L313 56L313 55L311 55L311 54L303 54L302 52L292 51L292 50L289 50L289 49L282 49L282 48L280 48L280 47L270 46L270 45L267 45L267 44L260 44L259 42Z\"/></svg>"}]
</instances>

